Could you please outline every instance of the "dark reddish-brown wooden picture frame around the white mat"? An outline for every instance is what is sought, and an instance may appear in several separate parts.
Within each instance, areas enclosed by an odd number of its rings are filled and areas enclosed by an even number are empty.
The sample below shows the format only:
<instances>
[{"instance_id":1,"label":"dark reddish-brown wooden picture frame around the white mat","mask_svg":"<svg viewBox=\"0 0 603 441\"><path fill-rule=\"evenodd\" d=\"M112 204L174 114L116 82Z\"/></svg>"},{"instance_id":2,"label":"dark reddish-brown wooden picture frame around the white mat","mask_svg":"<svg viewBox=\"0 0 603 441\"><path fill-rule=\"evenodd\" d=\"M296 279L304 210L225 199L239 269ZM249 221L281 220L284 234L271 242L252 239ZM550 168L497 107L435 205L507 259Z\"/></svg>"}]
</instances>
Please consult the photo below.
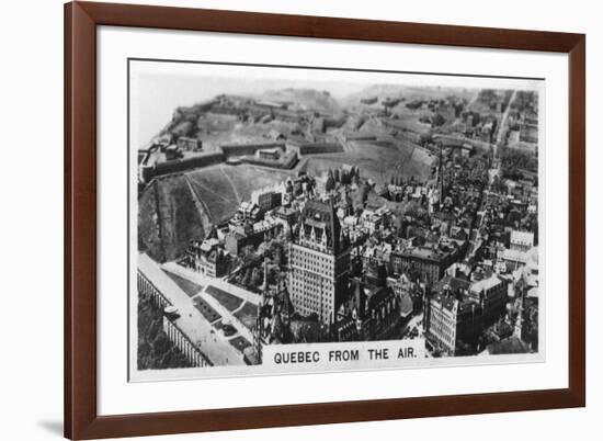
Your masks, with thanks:
<instances>
[{"instance_id":1,"label":"dark reddish-brown wooden picture frame around the white mat","mask_svg":"<svg viewBox=\"0 0 603 441\"><path fill-rule=\"evenodd\" d=\"M98 416L96 26L488 47L569 55L569 386L561 389ZM93 439L585 405L585 36L72 2L65 5L65 436Z\"/></svg>"}]
</instances>

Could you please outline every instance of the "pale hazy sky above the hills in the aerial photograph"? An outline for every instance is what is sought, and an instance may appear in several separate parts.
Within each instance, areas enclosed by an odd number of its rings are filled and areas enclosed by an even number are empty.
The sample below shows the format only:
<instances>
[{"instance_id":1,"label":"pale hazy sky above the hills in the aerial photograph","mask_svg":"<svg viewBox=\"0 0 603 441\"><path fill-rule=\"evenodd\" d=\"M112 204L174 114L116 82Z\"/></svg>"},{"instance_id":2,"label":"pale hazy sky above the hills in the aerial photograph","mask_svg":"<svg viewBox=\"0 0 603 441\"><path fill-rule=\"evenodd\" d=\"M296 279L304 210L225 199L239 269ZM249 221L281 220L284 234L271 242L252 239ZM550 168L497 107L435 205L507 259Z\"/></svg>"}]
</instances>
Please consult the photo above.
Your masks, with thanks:
<instances>
[{"instance_id":1,"label":"pale hazy sky above the hills in the aerial photograph","mask_svg":"<svg viewBox=\"0 0 603 441\"><path fill-rule=\"evenodd\" d=\"M171 120L178 106L220 93L252 95L285 88L327 90L342 99L375 84L400 87L485 87L537 89L533 80L468 78L402 72L366 72L273 66L133 61L130 65L132 144L148 143Z\"/></svg>"}]
</instances>

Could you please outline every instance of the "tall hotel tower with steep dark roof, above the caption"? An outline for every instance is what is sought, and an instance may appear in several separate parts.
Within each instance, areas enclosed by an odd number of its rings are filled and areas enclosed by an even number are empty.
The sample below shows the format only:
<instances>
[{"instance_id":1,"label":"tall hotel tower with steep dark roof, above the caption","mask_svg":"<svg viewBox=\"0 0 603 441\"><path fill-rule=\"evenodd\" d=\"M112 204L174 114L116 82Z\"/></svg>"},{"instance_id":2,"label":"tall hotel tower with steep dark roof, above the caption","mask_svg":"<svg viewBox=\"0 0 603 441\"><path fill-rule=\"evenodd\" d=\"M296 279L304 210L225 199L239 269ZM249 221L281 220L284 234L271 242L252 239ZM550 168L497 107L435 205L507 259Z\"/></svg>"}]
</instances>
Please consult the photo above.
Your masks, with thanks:
<instances>
[{"instance_id":1,"label":"tall hotel tower with steep dark roof, above the caption","mask_svg":"<svg viewBox=\"0 0 603 441\"><path fill-rule=\"evenodd\" d=\"M332 324L350 272L350 244L332 202L308 201L292 235L289 292L295 310Z\"/></svg>"}]
</instances>

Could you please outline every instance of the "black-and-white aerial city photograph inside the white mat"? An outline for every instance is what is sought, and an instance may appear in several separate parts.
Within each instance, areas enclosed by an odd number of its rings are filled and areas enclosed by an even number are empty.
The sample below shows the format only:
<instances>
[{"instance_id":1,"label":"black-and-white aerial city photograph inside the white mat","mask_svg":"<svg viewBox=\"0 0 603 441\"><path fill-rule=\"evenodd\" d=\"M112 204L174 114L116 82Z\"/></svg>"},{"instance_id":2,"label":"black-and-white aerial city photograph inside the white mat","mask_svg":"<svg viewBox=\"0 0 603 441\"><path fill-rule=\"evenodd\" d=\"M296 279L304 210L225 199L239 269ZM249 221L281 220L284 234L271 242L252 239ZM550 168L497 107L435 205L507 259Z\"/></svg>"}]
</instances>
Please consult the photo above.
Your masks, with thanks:
<instances>
[{"instance_id":1,"label":"black-and-white aerial city photograph inside the white mat","mask_svg":"<svg viewBox=\"0 0 603 441\"><path fill-rule=\"evenodd\" d=\"M538 81L194 68L130 77L130 370L542 354Z\"/></svg>"}]
</instances>

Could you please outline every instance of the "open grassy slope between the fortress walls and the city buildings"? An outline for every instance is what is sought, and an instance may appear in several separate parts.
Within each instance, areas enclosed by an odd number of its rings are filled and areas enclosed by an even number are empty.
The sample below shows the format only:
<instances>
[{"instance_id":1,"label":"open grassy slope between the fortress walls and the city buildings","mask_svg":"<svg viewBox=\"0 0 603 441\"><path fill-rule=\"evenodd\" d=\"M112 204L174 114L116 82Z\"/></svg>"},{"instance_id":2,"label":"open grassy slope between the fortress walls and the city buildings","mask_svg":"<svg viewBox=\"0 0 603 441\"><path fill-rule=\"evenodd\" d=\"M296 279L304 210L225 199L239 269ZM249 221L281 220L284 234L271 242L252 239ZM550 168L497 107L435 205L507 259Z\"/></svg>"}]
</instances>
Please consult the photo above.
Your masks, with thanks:
<instances>
[{"instance_id":1,"label":"open grassy slope between the fortress walls and the city buildings","mask_svg":"<svg viewBox=\"0 0 603 441\"><path fill-rule=\"evenodd\" d=\"M159 262L173 260L190 240L203 239L212 225L228 220L254 190L283 182L298 171L317 176L350 165L359 167L364 178L386 183L392 176L423 180L434 160L425 150L395 138L378 144L351 142L346 150L308 156L293 170L218 165L161 178L139 200L139 248Z\"/></svg>"}]
</instances>

